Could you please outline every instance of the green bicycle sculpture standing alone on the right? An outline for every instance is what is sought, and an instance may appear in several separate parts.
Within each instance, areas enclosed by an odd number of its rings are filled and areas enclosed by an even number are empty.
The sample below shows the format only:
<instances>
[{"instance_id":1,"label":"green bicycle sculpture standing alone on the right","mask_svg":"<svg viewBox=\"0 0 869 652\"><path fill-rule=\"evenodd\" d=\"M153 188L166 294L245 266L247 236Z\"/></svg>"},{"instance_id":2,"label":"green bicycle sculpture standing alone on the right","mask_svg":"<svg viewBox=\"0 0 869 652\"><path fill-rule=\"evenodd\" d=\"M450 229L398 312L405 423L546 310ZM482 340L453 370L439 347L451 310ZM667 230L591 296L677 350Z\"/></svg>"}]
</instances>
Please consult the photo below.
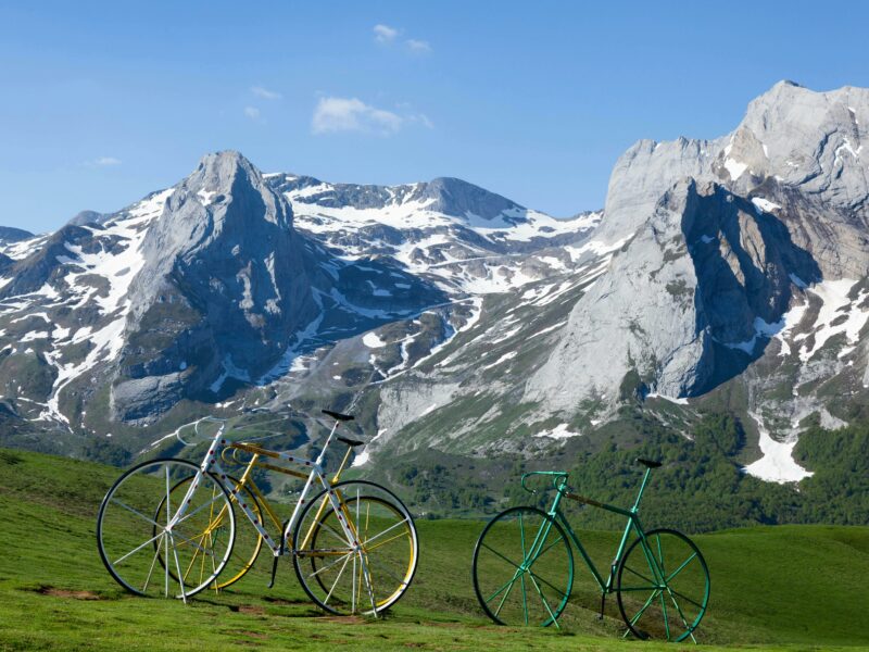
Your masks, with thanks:
<instances>
[{"instance_id":1,"label":"green bicycle sculpture standing alone on the right","mask_svg":"<svg viewBox=\"0 0 869 652\"><path fill-rule=\"evenodd\" d=\"M644 530L640 499L659 462L637 460L646 467L629 510L575 493L567 475L557 471L526 473L550 476L556 490L549 511L511 507L492 518L474 549L474 589L486 614L500 625L555 624L574 584L570 541L601 589L601 617L606 595L615 593L628 629L640 639L682 641L691 638L709 603L709 569L696 544L672 529ZM628 518L621 542L604 579L559 509L563 499L600 507ZM637 538L630 542L631 531Z\"/></svg>"}]
</instances>

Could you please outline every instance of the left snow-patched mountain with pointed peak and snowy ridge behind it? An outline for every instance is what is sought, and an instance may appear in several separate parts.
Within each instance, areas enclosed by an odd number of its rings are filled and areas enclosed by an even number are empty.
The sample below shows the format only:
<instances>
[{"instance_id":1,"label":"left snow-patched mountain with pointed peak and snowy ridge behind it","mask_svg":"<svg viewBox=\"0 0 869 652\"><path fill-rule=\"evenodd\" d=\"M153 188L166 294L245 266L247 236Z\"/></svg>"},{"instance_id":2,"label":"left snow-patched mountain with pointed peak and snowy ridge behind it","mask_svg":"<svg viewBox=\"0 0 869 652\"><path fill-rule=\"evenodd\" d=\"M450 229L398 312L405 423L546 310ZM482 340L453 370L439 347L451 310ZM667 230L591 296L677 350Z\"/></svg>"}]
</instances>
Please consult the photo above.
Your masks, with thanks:
<instances>
[{"instance_id":1,"label":"left snow-patched mountain with pointed peak and snowy ridge behind it","mask_svg":"<svg viewBox=\"0 0 869 652\"><path fill-rule=\"evenodd\" d=\"M284 383L383 324L413 331L410 364L474 317L468 288L572 267L563 244L599 220L556 221L458 179L328 185L209 154L122 211L3 244L11 430L49 450L97 432L139 447L166 418Z\"/></svg>"}]
</instances>

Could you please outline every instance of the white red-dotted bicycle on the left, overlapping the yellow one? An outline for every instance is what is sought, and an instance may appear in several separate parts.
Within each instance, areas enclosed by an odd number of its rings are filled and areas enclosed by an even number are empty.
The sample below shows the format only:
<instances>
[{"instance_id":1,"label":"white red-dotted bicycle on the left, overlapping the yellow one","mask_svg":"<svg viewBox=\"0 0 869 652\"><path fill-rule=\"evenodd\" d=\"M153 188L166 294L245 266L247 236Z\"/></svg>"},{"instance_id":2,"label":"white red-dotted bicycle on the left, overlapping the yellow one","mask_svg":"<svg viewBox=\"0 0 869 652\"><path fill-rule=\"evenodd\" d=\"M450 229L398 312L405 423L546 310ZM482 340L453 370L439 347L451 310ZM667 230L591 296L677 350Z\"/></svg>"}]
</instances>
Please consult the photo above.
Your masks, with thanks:
<instances>
[{"instance_id":1,"label":"white red-dotted bicycle on the left, overlapping the yellow one","mask_svg":"<svg viewBox=\"0 0 869 652\"><path fill-rule=\"evenodd\" d=\"M255 530L256 552L263 543L272 551L272 585L278 560L291 554L302 588L325 611L377 616L393 605L416 572L418 540L413 517L399 498L379 485L327 478L323 463L332 441L349 447L342 468L350 448L363 442L336 435L338 426L352 416L323 412L335 424L316 460L251 442L230 442L227 421L222 418L204 417L176 430L182 443L181 431L209 431L210 446L199 465L176 457L142 462L115 481L100 505L97 541L112 577L133 593L185 602L206 588L231 584L222 585L217 578L234 551L238 509ZM222 467L226 453L234 460L250 455L240 479ZM257 499L250 490L255 466L305 478L292 516L277 532L269 534L263 522L263 497ZM315 485L322 489L308 498ZM265 507L274 521L274 511Z\"/></svg>"}]
</instances>

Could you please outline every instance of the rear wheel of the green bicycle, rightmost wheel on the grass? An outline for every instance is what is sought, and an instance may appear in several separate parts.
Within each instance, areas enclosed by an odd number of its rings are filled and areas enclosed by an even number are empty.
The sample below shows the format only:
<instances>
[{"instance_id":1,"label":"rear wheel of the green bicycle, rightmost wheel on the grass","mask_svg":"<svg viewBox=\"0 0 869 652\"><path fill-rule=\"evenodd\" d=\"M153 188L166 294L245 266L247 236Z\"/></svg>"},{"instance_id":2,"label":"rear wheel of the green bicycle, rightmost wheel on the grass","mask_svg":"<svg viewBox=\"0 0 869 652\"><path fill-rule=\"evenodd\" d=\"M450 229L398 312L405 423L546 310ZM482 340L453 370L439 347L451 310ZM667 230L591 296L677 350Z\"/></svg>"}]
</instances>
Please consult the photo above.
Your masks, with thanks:
<instances>
[{"instance_id":1,"label":"rear wheel of the green bicycle, rightmost wheel on the grass","mask_svg":"<svg viewBox=\"0 0 869 652\"><path fill-rule=\"evenodd\" d=\"M621 617L637 638L693 639L709 603L709 568L682 532L654 529L621 557L616 593Z\"/></svg>"}]
</instances>

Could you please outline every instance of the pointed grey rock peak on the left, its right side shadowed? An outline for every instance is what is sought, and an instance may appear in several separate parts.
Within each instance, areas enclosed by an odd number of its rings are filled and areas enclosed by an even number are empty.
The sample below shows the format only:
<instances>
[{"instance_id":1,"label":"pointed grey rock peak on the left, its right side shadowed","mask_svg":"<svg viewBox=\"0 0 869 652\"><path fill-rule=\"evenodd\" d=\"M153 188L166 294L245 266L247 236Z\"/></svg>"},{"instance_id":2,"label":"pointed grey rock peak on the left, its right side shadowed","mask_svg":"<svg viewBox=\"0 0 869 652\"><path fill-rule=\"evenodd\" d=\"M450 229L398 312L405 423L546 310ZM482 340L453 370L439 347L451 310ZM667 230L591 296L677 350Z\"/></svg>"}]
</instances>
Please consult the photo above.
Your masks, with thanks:
<instances>
[{"instance_id":1,"label":"pointed grey rock peak on the left, its right side shadowed","mask_svg":"<svg viewBox=\"0 0 869 652\"><path fill-rule=\"evenodd\" d=\"M140 252L112 390L121 418L259 378L319 312L290 206L237 152L202 160Z\"/></svg>"}]
</instances>

